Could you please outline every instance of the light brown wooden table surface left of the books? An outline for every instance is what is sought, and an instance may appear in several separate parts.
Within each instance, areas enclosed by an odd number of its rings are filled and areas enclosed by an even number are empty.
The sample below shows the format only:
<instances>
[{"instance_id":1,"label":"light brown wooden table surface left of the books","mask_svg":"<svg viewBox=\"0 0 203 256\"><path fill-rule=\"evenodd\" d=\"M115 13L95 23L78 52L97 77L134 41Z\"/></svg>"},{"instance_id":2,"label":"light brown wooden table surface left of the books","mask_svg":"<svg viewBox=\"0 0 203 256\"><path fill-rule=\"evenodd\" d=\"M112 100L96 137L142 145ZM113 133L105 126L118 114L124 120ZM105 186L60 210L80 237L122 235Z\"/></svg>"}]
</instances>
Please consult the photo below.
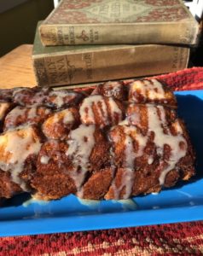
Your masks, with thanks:
<instances>
[{"instance_id":1,"label":"light brown wooden table surface left of the books","mask_svg":"<svg viewBox=\"0 0 203 256\"><path fill-rule=\"evenodd\" d=\"M22 44L0 58L0 88L35 85L32 44Z\"/></svg>"}]
</instances>

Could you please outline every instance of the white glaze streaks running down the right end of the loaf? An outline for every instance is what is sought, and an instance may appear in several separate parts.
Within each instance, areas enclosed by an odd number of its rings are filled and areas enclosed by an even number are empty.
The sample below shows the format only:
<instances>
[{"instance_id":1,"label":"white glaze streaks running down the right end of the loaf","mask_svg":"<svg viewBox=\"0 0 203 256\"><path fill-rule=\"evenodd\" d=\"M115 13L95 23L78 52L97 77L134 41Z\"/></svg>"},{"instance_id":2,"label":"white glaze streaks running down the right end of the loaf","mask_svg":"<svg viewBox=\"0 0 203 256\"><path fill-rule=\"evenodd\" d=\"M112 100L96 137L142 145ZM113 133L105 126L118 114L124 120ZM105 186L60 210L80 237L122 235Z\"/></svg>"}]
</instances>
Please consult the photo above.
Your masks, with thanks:
<instances>
[{"instance_id":1,"label":"white glaze streaks running down the right end of the loaf","mask_svg":"<svg viewBox=\"0 0 203 256\"><path fill-rule=\"evenodd\" d=\"M160 185L165 183L165 176L168 172L176 167L177 162L186 154L187 152L187 142L183 137L183 129L178 122L173 123L173 126L177 132L177 135L171 134L170 129L167 129L167 134L163 131L163 126L167 127L166 119L165 119L165 108L162 106L153 106L147 104L148 108L148 135L149 132L154 131L154 143L157 148L157 153L162 156L165 144L169 145L171 148L171 155L169 160L165 160L167 166L165 166L164 170L161 172L159 177ZM159 110L159 114L158 114ZM131 189L133 183L133 173L134 173L134 164L136 157L142 156L143 149L146 147L148 141L148 135L142 136L139 132L136 131L136 127L133 125L123 125L125 131L125 172L122 176L121 186L116 188L115 183L113 181L113 191L116 198L119 198L119 193L121 189L125 187L125 195L124 198L128 198L131 195ZM131 137L131 132L135 137ZM120 140L119 137L113 137L114 143L118 143ZM136 140L138 143L138 150L135 152L133 147L133 141ZM180 148L180 143L184 144L183 148ZM148 165L151 165L154 162L153 156L149 156Z\"/></svg>"}]
</instances>

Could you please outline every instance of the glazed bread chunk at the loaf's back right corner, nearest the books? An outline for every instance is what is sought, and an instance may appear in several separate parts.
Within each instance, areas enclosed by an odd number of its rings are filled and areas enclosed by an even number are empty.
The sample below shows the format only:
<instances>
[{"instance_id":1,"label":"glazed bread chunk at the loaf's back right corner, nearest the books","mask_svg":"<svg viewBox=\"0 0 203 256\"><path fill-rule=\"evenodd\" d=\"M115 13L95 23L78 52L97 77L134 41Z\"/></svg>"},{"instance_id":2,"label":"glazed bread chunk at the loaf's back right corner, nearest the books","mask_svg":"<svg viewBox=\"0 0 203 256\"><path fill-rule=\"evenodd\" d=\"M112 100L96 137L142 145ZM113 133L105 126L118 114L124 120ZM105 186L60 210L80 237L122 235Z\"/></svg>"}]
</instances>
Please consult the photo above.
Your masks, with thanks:
<instances>
[{"instance_id":1,"label":"glazed bread chunk at the loaf's back right corner, nearest the books","mask_svg":"<svg viewBox=\"0 0 203 256\"><path fill-rule=\"evenodd\" d=\"M157 79L132 82L129 89L129 102L177 106L177 101L172 91Z\"/></svg>"}]
</instances>

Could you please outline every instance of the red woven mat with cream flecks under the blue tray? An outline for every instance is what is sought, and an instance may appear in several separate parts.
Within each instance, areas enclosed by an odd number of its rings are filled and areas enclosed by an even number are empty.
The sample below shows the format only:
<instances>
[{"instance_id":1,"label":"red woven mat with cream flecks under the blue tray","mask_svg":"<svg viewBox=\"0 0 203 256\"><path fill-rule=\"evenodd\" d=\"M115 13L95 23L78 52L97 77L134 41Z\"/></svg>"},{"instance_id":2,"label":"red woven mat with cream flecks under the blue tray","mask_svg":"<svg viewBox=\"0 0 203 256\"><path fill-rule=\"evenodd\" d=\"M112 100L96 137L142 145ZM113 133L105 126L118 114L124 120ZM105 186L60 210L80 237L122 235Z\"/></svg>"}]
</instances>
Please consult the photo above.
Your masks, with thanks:
<instances>
[{"instance_id":1,"label":"red woven mat with cream flecks under the blue tray","mask_svg":"<svg viewBox=\"0 0 203 256\"><path fill-rule=\"evenodd\" d=\"M171 85L173 90L203 89L203 67L156 78ZM203 255L203 222L0 238L0 256L160 254Z\"/></svg>"}]
</instances>

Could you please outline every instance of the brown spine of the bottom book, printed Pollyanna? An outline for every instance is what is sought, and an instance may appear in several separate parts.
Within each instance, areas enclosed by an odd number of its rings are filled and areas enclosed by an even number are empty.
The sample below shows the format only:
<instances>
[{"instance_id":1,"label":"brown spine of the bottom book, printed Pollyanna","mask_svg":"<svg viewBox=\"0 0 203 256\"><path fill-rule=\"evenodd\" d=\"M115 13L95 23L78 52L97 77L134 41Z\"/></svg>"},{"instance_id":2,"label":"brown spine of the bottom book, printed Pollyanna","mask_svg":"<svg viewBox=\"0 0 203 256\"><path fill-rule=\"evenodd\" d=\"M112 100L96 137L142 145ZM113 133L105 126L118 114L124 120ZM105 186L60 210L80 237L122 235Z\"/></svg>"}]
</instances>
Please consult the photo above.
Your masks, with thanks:
<instances>
[{"instance_id":1,"label":"brown spine of the bottom book, printed Pollyanna","mask_svg":"<svg viewBox=\"0 0 203 256\"><path fill-rule=\"evenodd\" d=\"M32 58L38 85L57 86L175 72L187 67L188 55L185 47L141 45Z\"/></svg>"}]
</instances>

